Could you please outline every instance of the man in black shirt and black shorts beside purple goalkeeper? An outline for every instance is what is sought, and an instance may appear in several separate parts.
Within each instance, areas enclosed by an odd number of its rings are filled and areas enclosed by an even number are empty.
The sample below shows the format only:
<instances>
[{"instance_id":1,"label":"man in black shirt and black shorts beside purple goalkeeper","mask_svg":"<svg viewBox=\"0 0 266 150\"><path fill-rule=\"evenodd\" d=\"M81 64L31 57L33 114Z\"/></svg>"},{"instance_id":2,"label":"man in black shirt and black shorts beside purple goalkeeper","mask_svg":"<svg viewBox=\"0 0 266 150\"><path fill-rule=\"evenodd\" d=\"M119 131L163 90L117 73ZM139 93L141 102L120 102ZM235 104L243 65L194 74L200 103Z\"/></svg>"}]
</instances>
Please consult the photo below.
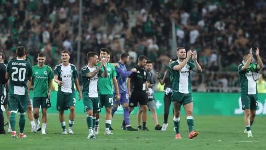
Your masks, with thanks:
<instances>
[{"instance_id":1,"label":"man in black shirt and black shorts beside purple goalkeeper","mask_svg":"<svg viewBox=\"0 0 266 150\"><path fill-rule=\"evenodd\" d=\"M151 94L148 88L147 72L144 70L146 62L147 62L147 57L140 56L138 58L138 64L134 66L137 72L133 72L129 77L127 77L127 89L129 95L129 114L134 110L135 107L137 107L139 102L143 112L142 130L149 131L148 128L146 127L147 103L148 103L146 91L148 93L148 96L150 96Z\"/></svg>"}]
</instances>

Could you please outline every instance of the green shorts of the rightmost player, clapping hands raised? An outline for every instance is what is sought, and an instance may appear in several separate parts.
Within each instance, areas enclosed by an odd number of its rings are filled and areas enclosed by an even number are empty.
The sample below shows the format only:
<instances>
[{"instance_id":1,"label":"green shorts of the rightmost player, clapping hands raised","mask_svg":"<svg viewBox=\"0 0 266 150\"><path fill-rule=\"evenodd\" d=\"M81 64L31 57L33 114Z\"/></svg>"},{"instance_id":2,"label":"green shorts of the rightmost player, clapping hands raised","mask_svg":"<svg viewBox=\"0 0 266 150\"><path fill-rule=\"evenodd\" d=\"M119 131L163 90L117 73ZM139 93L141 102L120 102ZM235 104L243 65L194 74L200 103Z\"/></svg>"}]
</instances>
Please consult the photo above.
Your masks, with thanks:
<instances>
[{"instance_id":1,"label":"green shorts of the rightmost player, clapping hands raised","mask_svg":"<svg viewBox=\"0 0 266 150\"><path fill-rule=\"evenodd\" d=\"M257 94L241 94L242 110L257 110L258 95Z\"/></svg>"}]
</instances>

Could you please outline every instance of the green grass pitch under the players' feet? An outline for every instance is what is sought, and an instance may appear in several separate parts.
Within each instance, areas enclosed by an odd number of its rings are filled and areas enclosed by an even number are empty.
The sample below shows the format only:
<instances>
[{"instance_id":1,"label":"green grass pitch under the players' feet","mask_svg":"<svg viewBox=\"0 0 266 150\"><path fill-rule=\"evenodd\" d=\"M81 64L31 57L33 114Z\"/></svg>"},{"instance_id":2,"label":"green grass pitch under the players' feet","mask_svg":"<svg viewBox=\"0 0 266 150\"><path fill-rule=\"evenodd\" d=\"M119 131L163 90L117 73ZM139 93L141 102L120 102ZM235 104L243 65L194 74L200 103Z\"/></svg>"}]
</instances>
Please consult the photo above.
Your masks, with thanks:
<instances>
[{"instance_id":1,"label":"green grass pitch under the players' feet","mask_svg":"<svg viewBox=\"0 0 266 150\"><path fill-rule=\"evenodd\" d=\"M5 116L5 114L4 114ZM40 114L41 116L41 114ZM19 134L18 120L16 115L16 131ZM104 114L100 116L100 130L97 139L87 139L88 128L86 114L76 114L72 127L73 135L61 135L58 114L48 114L46 134L31 133L31 125L26 117L24 133L27 138L12 138L11 133L0 135L1 149L265 149L265 121L266 117L256 117L252 126L253 138L247 138L244 134L244 117L229 116L194 116L194 130L200 132L198 137L190 140L188 138L188 126L186 117L180 117L180 132L182 139L175 139L173 131L173 119L170 115L169 125L166 131L154 130L151 116L148 116L146 126L150 131L125 131L120 125L123 115L114 115L112 121L113 135L104 135ZM4 117L5 118L5 117ZM65 114L68 118L68 114ZM6 119L6 118L5 118ZM158 116L159 124L162 125L163 115ZM66 129L68 129L66 119ZM5 120L6 122L6 120ZM137 128L136 115L130 116L132 127ZM42 126L40 118L40 127ZM8 130L8 127L5 127Z\"/></svg>"}]
</instances>

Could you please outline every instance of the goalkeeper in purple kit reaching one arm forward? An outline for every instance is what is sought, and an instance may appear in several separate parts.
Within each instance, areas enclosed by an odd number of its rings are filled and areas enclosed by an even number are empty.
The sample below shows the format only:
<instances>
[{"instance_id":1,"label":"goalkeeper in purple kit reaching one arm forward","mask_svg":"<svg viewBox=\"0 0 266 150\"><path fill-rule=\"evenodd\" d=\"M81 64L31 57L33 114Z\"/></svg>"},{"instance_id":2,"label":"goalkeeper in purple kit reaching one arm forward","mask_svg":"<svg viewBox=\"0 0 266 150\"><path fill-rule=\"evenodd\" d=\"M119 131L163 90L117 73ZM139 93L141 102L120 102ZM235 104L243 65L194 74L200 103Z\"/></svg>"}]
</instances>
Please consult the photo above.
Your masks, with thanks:
<instances>
[{"instance_id":1,"label":"goalkeeper in purple kit reaching one arm forward","mask_svg":"<svg viewBox=\"0 0 266 150\"><path fill-rule=\"evenodd\" d=\"M126 85L126 79L128 76L130 76L133 72L136 72L136 68L132 68L130 71L126 70L126 63L129 62L129 54L128 53L121 53L120 54L120 61L117 62L116 66L116 72L117 72L117 82L120 92L120 99L114 101L114 106L112 108L112 117L117 110L118 106L122 104L124 109L124 121L121 125L122 129L127 131L137 131L136 129L132 128L130 126L130 119L129 119L129 95ZM116 95L116 90L114 90L114 95Z\"/></svg>"}]
</instances>

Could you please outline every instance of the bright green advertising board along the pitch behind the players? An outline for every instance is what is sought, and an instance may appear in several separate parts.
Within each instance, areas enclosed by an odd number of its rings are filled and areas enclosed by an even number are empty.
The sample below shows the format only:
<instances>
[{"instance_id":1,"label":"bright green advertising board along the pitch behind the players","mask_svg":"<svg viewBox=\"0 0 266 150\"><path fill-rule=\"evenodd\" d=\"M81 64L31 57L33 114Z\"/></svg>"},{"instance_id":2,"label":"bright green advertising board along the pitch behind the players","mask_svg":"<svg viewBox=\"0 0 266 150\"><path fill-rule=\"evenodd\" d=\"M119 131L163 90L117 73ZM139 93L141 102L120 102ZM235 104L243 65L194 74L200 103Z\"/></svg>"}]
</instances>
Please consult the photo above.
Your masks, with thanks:
<instances>
[{"instance_id":1,"label":"bright green advertising board along the pitch behind the players","mask_svg":"<svg viewBox=\"0 0 266 150\"><path fill-rule=\"evenodd\" d=\"M58 113L56 110L56 91L51 93L52 107L48 109L49 113ZM233 116L243 115L241 109L240 93L193 93L194 110L193 115L219 115L219 116ZM32 91L30 97L32 100ZM158 115L164 114L163 97L164 92L155 92L156 112ZM259 102L257 109L257 116L266 115L266 94L258 94ZM82 99L78 101L78 92L76 92L76 113L84 113L84 105ZM172 105L170 106L170 114L172 114ZM3 110L3 109L2 109ZM5 109L4 109L5 110ZM132 114L137 114L138 109L135 108ZM68 113L69 111L66 111ZM104 113L104 109L101 110ZM116 114L123 114L123 107L119 106ZM150 114L150 112L148 112ZM185 115L184 109L181 109L181 115Z\"/></svg>"}]
</instances>

